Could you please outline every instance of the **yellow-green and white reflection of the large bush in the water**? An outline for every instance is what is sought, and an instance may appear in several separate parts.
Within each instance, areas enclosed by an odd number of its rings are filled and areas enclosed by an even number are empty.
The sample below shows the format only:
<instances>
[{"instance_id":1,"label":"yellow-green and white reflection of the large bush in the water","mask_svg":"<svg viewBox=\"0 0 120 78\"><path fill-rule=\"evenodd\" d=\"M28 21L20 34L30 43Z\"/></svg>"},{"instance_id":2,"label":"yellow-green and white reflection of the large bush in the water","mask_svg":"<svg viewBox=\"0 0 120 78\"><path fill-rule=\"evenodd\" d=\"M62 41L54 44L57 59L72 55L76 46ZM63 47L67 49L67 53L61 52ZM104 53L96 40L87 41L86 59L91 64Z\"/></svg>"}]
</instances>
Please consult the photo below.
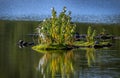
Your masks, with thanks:
<instances>
[{"instance_id":1,"label":"yellow-green and white reflection of the large bush in the water","mask_svg":"<svg viewBox=\"0 0 120 78\"><path fill-rule=\"evenodd\" d=\"M51 73L52 77L60 73L69 76L73 72L73 52L49 53L47 52L39 61L38 70L42 74Z\"/></svg>"}]
</instances>

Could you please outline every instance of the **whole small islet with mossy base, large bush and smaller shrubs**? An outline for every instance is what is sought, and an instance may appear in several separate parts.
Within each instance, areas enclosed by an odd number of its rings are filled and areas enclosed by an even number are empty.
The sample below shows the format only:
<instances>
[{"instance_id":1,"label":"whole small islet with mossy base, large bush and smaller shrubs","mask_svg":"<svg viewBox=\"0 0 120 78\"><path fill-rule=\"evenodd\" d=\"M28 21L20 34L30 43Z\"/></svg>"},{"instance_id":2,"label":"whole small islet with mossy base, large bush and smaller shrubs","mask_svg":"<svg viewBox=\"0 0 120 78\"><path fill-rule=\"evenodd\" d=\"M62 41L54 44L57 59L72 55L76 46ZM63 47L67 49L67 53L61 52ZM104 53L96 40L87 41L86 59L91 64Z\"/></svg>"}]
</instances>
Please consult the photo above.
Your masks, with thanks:
<instances>
[{"instance_id":1,"label":"whole small islet with mossy base, large bush and smaller shrubs","mask_svg":"<svg viewBox=\"0 0 120 78\"><path fill-rule=\"evenodd\" d=\"M36 51L45 50L71 50L79 47L103 48L111 46L109 40L101 40L108 37L103 31L97 34L91 26L88 27L87 34L80 37L76 34L76 24L71 21L71 11L63 8L58 15L56 10L52 8L51 18L43 20L36 28L37 45L32 49ZM109 39L112 37L110 36Z\"/></svg>"}]
</instances>

